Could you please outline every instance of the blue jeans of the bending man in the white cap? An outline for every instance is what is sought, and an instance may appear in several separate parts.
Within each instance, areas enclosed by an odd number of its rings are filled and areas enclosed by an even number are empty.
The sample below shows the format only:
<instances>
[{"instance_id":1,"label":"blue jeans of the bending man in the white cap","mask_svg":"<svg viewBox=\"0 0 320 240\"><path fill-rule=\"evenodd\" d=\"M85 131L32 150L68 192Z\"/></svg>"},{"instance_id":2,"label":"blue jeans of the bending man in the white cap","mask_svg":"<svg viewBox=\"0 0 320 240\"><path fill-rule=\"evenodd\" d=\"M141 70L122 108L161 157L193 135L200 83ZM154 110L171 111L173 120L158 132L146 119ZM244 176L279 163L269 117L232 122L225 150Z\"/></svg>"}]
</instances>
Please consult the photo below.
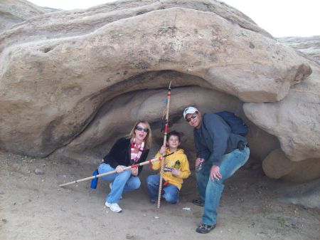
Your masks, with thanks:
<instances>
[{"instance_id":1,"label":"blue jeans of the bending man in the white cap","mask_svg":"<svg viewBox=\"0 0 320 240\"><path fill-rule=\"evenodd\" d=\"M231 177L240 167L245 165L245 162L249 159L249 155L249 147L245 147L245 150L242 151L238 149L233 150L233 152L224 155L220 164L222 179L210 179L208 169L206 168L211 168L211 165L203 165L203 169L196 173L199 197L201 201L205 202L202 215L203 224L213 225L216 223L218 206L224 187L223 182L225 179Z\"/></svg>"}]
</instances>

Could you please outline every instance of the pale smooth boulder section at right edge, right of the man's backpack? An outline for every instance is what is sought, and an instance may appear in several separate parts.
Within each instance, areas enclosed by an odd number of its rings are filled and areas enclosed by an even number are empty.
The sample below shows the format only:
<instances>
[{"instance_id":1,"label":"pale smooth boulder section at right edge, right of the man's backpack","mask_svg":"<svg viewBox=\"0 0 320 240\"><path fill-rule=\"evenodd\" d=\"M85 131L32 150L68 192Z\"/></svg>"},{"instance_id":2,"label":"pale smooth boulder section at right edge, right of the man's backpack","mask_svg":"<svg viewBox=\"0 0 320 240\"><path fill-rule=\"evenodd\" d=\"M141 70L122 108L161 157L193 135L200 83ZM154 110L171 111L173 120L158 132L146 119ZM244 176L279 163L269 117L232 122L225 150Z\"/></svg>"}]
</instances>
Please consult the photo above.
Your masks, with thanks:
<instances>
[{"instance_id":1,"label":"pale smooth boulder section at right edge, right of the man's backpack","mask_svg":"<svg viewBox=\"0 0 320 240\"><path fill-rule=\"evenodd\" d=\"M247 118L277 136L282 150L293 161L319 158L320 68L275 103L245 103Z\"/></svg>"}]
</instances>

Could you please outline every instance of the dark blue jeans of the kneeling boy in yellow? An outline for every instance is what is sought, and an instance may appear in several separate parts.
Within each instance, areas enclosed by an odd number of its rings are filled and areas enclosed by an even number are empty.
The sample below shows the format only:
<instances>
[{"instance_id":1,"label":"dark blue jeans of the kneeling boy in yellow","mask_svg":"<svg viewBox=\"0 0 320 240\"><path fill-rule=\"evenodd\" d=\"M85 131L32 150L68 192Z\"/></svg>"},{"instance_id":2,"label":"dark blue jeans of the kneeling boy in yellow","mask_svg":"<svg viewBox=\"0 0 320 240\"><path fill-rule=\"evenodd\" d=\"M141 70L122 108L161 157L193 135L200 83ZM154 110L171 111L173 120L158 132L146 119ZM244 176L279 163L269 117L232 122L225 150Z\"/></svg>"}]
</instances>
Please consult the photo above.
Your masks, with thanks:
<instances>
[{"instance_id":1,"label":"dark blue jeans of the kneeling boy in yellow","mask_svg":"<svg viewBox=\"0 0 320 240\"><path fill-rule=\"evenodd\" d=\"M146 177L146 187L148 187L148 191L150 194L150 199L156 201L159 195L159 182L160 182L160 174L157 175L149 175ZM179 189L173 184L167 184L166 187L162 188L164 190L164 194L162 197L166 199L166 202L171 204L176 204L179 199Z\"/></svg>"}]
</instances>

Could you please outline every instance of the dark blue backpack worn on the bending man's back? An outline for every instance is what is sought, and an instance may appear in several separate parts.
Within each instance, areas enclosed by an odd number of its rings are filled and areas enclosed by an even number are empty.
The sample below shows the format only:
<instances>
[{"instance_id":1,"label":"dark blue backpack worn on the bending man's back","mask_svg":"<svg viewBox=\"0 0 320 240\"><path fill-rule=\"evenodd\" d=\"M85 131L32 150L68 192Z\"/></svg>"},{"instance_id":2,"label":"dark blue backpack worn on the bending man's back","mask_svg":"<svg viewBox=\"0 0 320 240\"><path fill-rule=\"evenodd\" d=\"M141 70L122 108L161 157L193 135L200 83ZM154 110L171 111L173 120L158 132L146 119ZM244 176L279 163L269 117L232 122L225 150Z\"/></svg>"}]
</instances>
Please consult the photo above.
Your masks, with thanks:
<instances>
[{"instance_id":1,"label":"dark blue backpack worn on the bending man's back","mask_svg":"<svg viewBox=\"0 0 320 240\"><path fill-rule=\"evenodd\" d=\"M245 137L247 135L247 132L249 131L249 127L245 125L245 122L241 118L238 117L235 113L231 113L228 111L222 111L215 113L216 115L219 115L231 128L231 132L241 135Z\"/></svg>"}]
</instances>

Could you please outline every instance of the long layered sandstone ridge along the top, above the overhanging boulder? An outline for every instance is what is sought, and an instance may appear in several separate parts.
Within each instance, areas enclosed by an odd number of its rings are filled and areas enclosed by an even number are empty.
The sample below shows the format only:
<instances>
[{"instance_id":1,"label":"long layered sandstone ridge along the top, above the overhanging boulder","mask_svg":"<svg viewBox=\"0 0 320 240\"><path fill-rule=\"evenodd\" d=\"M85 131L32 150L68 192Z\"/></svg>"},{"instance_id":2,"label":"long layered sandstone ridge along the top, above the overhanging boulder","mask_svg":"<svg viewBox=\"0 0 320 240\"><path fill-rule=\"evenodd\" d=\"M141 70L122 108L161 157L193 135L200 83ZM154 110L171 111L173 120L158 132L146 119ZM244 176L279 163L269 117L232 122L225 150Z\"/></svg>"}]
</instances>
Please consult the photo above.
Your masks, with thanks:
<instances>
[{"instance_id":1,"label":"long layered sandstone ridge along the top, above the overhanging boulder","mask_svg":"<svg viewBox=\"0 0 320 240\"><path fill-rule=\"evenodd\" d=\"M15 5L18 5L16 1ZM7 5L7 4L6 4ZM134 18L151 11L181 7L217 14L230 23L272 37L249 17L219 1L115 1L90 9L60 11L33 18L0 36L0 51L14 43L82 36L120 19ZM6 7L4 7L5 9ZM32 33L32 34L30 34Z\"/></svg>"}]
</instances>

